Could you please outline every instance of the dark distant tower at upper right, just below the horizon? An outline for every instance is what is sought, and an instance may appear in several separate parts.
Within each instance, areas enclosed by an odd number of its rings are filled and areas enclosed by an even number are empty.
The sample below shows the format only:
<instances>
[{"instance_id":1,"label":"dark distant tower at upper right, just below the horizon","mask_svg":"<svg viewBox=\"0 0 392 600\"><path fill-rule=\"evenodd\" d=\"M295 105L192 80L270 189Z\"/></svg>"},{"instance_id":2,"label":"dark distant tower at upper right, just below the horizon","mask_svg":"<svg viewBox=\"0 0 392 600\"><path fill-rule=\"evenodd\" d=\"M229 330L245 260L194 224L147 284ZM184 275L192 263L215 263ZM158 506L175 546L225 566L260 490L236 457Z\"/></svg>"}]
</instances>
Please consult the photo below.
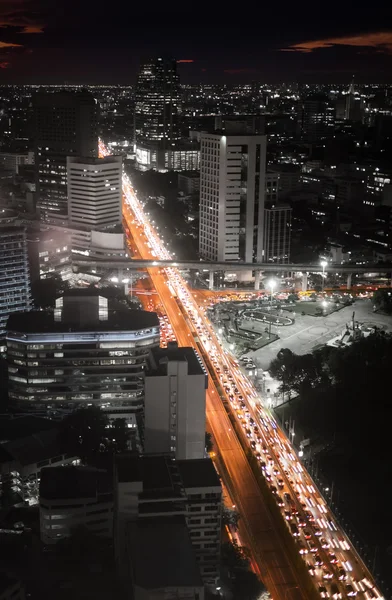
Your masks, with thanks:
<instances>
[{"instance_id":1,"label":"dark distant tower at upper right, just below the horizon","mask_svg":"<svg viewBox=\"0 0 392 600\"><path fill-rule=\"evenodd\" d=\"M297 135L307 143L318 143L333 136L334 108L323 95L300 100L297 113Z\"/></svg>"}]
</instances>

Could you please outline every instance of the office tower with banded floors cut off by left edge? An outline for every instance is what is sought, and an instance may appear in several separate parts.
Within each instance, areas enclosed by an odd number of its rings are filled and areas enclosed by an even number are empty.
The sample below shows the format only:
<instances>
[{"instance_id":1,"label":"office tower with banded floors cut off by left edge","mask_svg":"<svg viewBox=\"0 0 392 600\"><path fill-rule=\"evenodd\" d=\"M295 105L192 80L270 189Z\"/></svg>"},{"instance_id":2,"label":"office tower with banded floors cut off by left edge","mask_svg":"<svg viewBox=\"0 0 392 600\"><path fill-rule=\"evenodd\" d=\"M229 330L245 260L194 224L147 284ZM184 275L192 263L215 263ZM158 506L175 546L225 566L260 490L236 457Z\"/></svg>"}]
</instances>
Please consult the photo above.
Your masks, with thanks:
<instances>
[{"instance_id":1,"label":"office tower with banded floors cut off by left edge","mask_svg":"<svg viewBox=\"0 0 392 600\"><path fill-rule=\"evenodd\" d=\"M13 224L15 220L12 211L0 212L0 351L5 349L9 316L31 308L26 230Z\"/></svg>"}]
</instances>

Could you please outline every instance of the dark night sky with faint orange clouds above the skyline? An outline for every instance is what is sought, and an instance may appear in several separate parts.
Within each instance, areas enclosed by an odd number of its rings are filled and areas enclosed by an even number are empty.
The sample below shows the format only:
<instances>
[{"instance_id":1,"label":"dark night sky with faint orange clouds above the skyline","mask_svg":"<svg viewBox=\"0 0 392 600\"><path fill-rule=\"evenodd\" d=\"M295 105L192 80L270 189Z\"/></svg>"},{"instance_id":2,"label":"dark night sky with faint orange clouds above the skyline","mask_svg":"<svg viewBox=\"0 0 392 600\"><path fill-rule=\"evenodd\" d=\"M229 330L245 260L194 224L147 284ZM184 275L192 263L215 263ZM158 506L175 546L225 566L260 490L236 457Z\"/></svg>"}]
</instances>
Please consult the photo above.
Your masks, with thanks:
<instances>
[{"instance_id":1,"label":"dark night sky with faint orange clouds above the skyline","mask_svg":"<svg viewBox=\"0 0 392 600\"><path fill-rule=\"evenodd\" d=\"M183 83L392 82L384 4L0 0L0 84L133 84L153 55Z\"/></svg>"}]
</instances>

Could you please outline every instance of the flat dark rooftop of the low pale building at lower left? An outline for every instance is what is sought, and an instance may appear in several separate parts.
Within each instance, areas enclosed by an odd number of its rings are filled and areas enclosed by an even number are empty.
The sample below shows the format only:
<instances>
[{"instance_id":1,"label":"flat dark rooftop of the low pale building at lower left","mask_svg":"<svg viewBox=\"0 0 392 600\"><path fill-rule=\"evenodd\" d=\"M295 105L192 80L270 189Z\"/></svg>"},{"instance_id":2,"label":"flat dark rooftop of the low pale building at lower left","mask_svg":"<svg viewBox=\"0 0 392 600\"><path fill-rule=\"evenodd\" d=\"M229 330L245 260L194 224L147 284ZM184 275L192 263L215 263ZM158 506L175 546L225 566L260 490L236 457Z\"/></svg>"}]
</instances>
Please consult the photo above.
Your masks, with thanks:
<instances>
[{"instance_id":1,"label":"flat dark rooftop of the low pale building at lower left","mask_svg":"<svg viewBox=\"0 0 392 600\"><path fill-rule=\"evenodd\" d=\"M45 467L41 471L39 495L45 500L95 499L112 492L110 475L95 467Z\"/></svg>"}]
</instances>

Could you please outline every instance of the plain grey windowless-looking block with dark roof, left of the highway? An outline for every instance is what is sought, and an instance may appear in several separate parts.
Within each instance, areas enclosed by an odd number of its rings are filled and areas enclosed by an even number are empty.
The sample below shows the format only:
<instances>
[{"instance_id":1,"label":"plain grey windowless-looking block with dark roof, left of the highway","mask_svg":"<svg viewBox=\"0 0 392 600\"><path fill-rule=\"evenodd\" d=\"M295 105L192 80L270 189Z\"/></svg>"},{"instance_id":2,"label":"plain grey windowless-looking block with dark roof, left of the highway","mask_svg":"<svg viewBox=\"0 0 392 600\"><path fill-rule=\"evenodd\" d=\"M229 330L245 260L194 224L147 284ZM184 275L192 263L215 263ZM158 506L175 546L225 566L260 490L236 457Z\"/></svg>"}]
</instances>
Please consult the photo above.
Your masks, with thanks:
<instances>
[{"instance_id":1,"label":"plain grey windowless-looking block with dark roof, left of the highway","mask_svg":"<svg viewBox=\"0 0 392 600\"><path fill-rule=\"evenodd\" d=\"M145 451L203 458L208 378L199 355L169 342L150 351L147 365Z\"/></svg>"}]
</instances>

